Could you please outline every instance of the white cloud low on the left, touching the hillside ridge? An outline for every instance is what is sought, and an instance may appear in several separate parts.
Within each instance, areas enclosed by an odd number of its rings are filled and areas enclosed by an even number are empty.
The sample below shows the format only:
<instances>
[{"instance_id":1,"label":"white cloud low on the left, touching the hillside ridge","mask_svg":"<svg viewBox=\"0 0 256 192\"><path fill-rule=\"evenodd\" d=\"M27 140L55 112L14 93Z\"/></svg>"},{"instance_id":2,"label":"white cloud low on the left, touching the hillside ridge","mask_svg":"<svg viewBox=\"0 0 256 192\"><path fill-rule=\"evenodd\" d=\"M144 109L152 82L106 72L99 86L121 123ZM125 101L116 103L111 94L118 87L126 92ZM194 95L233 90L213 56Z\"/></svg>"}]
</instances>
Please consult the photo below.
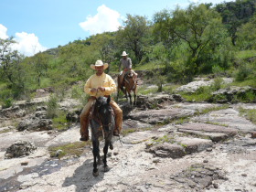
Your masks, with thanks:
<instances>
[{"instance_id":1,"label":"white cloud low on the left, touching the hillside ridge","mask_svg":"<svg viewBox=\"0 0 256 192\"><path fill-rule=\"evenodd\" d=\"M16 33L14 40L17 42L13 48L26 56L33 56L39 51L45 51L47 48L43 47L34 33Z\"/></svg>"}]
</instances>

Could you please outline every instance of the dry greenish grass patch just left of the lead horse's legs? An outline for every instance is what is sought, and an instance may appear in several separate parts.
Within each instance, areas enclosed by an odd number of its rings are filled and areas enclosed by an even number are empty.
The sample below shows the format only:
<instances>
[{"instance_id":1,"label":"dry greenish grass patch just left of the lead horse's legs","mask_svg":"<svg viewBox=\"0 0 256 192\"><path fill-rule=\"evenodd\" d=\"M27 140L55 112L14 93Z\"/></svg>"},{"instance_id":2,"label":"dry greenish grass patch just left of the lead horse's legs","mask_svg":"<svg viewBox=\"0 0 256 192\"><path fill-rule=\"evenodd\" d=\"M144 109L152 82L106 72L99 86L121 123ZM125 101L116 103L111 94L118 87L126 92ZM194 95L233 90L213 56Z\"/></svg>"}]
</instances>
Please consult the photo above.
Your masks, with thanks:
<instances>
[{"instance_id":1,"label":"dry greenish grass patch just left of the lead horse's legs","mask_svg":"<svg viewBox=\"0 0 256 192\"><path fill-rule=\"evenodd\" d=\"M64 156L80 156L86 145L91 145L91 141L88 142L75 142L71 144L61 144L59 146L50 146L48 147L48 151L51 157L56 155L58 150L62 150L62 153L59 154L58 158L62 158Z\"/></svg>"}]
</instances>

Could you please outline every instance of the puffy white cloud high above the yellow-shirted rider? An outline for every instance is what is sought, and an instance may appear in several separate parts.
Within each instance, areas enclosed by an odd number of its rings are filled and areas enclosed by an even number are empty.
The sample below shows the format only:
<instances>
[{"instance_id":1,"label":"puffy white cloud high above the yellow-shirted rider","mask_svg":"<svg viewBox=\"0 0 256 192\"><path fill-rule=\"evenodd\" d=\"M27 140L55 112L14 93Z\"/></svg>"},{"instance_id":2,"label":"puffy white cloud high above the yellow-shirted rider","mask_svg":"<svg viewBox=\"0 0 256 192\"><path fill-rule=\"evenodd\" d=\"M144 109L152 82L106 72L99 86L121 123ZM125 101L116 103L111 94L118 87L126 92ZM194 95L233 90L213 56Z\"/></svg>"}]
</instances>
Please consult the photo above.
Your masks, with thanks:
<instances>
[{"instance_id":1,"label":"puffy white cloud high above the yellow-shirted rider","mask_svg":"<svg viewBox=\"0 0 256 192\"><path fill-rule=\"evenodd\" d=\"M86 21L79 24L83 30L95 35L106 31L116 31L121 26L119 22L121 16L117 11L106 5L99 6L97 11L95 16L87 16Z\"/></svg>"}]
</instances>

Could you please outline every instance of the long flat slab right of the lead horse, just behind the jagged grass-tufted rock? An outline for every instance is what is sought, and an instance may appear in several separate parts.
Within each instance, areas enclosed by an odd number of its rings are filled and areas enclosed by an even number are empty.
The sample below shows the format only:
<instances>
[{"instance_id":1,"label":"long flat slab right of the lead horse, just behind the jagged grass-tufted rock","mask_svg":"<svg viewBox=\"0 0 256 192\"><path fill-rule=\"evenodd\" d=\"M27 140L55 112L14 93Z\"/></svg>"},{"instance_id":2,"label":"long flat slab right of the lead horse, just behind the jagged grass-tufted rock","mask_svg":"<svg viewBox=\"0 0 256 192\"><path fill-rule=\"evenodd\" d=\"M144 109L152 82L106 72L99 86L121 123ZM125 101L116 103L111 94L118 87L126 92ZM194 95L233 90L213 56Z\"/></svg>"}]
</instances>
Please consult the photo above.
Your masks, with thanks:
<instances>
[{"instance_id":1,"label":"long flat slab right of the lead horse, just behind the jagged grass-tufted rock","mask_svg":"<svg viewBox=\"0 0 256 192\"><path fill-rule=\"evenodd\" d=\"M188 123L179 125L177 131L206 136L213 142L219 142L238 133L236 129L208 123Z\"/></svg>"}]
</instances>

